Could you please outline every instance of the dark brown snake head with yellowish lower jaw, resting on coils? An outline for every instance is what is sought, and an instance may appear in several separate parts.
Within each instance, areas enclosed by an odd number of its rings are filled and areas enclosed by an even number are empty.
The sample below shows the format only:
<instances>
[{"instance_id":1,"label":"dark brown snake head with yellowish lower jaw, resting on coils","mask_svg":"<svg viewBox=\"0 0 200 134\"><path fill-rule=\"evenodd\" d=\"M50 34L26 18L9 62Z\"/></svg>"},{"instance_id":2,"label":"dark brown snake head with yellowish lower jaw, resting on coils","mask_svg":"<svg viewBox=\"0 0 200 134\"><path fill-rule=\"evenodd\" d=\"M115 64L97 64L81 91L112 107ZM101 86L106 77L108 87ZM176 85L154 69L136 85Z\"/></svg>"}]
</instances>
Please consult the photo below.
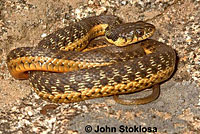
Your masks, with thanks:
<instances>
[{"instance_id":1,"label":"dark brown snake head with yellowish lower jaw, resting on coils","mask_svg":"<svg viewBox=\"0 0 200 134\"><path fill-rule=\"evenodd\" d=\"M155 26L152 24L138 21L108 27L105 36L110 43L116 46L126 46L151 37L154 31Z\"/></svg>"}]
</instances>

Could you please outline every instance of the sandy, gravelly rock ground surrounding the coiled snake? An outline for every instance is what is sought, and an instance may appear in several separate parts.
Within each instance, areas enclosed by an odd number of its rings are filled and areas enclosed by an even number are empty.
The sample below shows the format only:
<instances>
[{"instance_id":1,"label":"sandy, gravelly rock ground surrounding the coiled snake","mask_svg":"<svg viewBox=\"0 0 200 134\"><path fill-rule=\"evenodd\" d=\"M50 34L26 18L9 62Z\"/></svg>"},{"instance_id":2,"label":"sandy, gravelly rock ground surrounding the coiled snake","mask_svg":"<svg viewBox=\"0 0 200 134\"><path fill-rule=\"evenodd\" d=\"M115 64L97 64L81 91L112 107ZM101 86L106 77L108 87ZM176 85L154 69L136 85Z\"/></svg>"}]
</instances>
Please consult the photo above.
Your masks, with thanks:
<instances>
[{"instance_id":1,"label":"sandy, gravelly rock ground surrounding the coiled snake","mask_svg":"<svg viewBox=\"0 0 200 134\"><path fill-rule=\"evenodd\" d=\"M98 126L101 133L139 133L146 129L157 133L200 133L199 9L199 0L1 0L0 134L77 134L91 128L91 133L97 133ZM10 50L36 46L69 22L102 13L117 15L125 22L148 21L157 28L152 38L176 50L176 72L161 85L156 101L123 106L106 97L53 104L40 99L28 81L10 76L6 67Z\"/></svg>"}]
</instances>

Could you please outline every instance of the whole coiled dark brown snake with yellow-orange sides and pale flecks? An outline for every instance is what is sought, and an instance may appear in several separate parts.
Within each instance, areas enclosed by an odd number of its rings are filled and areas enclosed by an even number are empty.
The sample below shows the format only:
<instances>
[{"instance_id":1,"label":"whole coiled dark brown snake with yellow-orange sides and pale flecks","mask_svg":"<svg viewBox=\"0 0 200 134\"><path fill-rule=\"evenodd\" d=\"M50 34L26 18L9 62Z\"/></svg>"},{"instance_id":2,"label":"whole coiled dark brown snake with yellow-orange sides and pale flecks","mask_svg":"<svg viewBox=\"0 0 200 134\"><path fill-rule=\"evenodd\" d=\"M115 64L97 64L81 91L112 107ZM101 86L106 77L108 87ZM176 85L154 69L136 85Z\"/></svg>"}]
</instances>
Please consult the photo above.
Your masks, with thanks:
<instances>
[{"instance_id":1,"label":"whole coiled dark brown snake with yellow-orange sides and pale flecks","mask_svg":"<svg viewBox=\"0 0 200 134\"><path fill-rule=\"evenodd\" d=\"M8 70L16 79L29 79L40 97L53 102L113 95L121 104L148 103L157 98L157 85L172 75L176 61L171 47L148 39L154 31L153 25L142 21L88 17L48 35L36 47L12 50ZM109 45L90 45L103 35ZM154 87L153 93L136 102L118 98L149 87Z\"/></svg>"}]
</instances>

